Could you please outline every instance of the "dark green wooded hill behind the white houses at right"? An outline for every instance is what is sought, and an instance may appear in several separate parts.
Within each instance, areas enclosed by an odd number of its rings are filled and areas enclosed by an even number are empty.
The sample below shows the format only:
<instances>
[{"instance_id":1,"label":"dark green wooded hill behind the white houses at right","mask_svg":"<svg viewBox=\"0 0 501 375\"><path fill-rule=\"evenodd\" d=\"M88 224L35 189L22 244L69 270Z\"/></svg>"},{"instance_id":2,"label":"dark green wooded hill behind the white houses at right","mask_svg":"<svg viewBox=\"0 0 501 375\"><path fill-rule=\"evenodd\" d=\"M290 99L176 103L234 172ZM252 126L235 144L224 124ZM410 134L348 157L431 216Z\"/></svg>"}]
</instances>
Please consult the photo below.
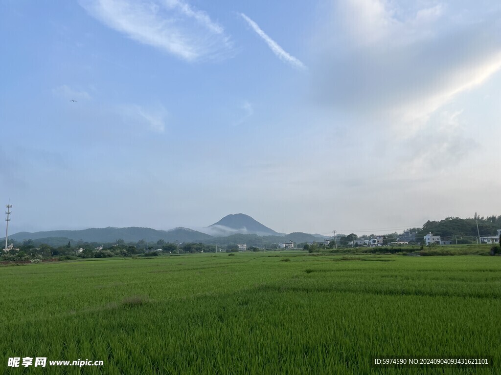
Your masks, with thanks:
<instances>
[{"instance_id":1,"label":"dark green wooded hill behind the white houses at right","mask_svg":"<svg viewBox=\"0 0 501 375\"><path fill-rule=\"evenodd\" d=\"M418 235L425 235L432 232L435 235L478 235L476 222L478 219L478 231L480 235L496 235L497 229L501 229L501 215L487 217L446 217L440 221L426 221Z\"/></svg>"}]
</instances>

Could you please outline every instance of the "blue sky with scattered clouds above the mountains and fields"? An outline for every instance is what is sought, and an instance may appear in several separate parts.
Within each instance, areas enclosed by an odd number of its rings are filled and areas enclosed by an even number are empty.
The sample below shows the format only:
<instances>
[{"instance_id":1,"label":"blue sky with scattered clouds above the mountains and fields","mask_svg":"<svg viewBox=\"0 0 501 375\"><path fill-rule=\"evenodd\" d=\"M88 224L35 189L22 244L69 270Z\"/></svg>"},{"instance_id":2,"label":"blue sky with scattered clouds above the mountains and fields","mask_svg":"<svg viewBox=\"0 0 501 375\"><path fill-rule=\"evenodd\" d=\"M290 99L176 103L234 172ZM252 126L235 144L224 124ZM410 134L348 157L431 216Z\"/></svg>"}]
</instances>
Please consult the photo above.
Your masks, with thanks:
<instances>
[{"instance_id":1,"label":"blue sky with scattered clouds above the mountains and fields","mask_svg":"<svg viewBox=\"0 0 501 375\"><path fill-rule=\"evenodd\" d=\"M501 214L498 0L0 0L0 33L10 233Z\"/></svg>"}]
</instances>

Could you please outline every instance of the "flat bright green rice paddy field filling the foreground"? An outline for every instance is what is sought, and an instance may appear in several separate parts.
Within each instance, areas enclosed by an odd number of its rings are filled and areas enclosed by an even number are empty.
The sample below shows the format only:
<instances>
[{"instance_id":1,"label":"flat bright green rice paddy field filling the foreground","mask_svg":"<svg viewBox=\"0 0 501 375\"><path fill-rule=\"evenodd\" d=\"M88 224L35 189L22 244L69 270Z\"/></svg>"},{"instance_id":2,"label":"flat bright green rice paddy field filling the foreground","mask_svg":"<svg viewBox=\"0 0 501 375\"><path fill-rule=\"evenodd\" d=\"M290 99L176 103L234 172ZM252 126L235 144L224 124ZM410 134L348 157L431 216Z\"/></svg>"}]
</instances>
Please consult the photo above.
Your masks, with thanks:
<instances>
[{"instance_id":1,"label":"flat bright green rice paddy field filling the foreground","mask_svg":"<svg viewBox=\"0 0 501 375\"><path fill-rule=\"evenodd\" d=\"M302 251L0 267L0 373L501 373L501 257ZM494 367L376 368L490 355ZM103 360L8 367L9 357Z\"/></svg>"}]
</instances>

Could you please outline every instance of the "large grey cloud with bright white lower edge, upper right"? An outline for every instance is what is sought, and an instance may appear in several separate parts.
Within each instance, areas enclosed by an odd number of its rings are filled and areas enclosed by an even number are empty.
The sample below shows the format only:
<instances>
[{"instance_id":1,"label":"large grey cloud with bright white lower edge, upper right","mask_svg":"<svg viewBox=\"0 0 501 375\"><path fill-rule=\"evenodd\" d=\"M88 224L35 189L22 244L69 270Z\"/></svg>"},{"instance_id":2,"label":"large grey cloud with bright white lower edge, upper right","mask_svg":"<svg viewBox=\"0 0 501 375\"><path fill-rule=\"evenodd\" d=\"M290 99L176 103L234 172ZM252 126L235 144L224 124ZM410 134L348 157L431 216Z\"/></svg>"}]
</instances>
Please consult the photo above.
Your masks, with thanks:
<instances>
[{"instance_id":1,"label":"large grey cloud with bright white lower edge, upper right","mask_svg":"<svg viewBox=\"0 0 501 375\"><path fill-rule=\"evenodd\" d=\"M501 68L499 13L465 22L441 4L412 12L390 4L337 2L318 38L316 100L416 131Z\"/></svg>"}]
</instances>

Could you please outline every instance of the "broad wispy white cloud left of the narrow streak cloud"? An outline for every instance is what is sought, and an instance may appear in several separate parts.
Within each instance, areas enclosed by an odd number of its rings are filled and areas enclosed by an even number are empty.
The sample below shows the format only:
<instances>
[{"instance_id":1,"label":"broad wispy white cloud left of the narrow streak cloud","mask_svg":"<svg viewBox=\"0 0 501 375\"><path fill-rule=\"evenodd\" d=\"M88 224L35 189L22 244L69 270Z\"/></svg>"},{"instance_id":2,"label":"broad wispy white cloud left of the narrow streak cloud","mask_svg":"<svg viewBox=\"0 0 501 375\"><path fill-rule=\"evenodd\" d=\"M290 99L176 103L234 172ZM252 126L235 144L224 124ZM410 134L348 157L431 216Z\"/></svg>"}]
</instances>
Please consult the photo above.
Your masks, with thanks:
<instances>
[{"instance_id":1,"label":"broad wispy white cloud left of the narrow streak cloud","mask_svg":"<svg viewBox=\"0 0 501 375\"><path fill-rule=\"evenodd\" d=\"M221 25L182 0L81 0L81 5L108 27L187 61L220 58L232 48Z\"/></svg>"}]
</instances>

